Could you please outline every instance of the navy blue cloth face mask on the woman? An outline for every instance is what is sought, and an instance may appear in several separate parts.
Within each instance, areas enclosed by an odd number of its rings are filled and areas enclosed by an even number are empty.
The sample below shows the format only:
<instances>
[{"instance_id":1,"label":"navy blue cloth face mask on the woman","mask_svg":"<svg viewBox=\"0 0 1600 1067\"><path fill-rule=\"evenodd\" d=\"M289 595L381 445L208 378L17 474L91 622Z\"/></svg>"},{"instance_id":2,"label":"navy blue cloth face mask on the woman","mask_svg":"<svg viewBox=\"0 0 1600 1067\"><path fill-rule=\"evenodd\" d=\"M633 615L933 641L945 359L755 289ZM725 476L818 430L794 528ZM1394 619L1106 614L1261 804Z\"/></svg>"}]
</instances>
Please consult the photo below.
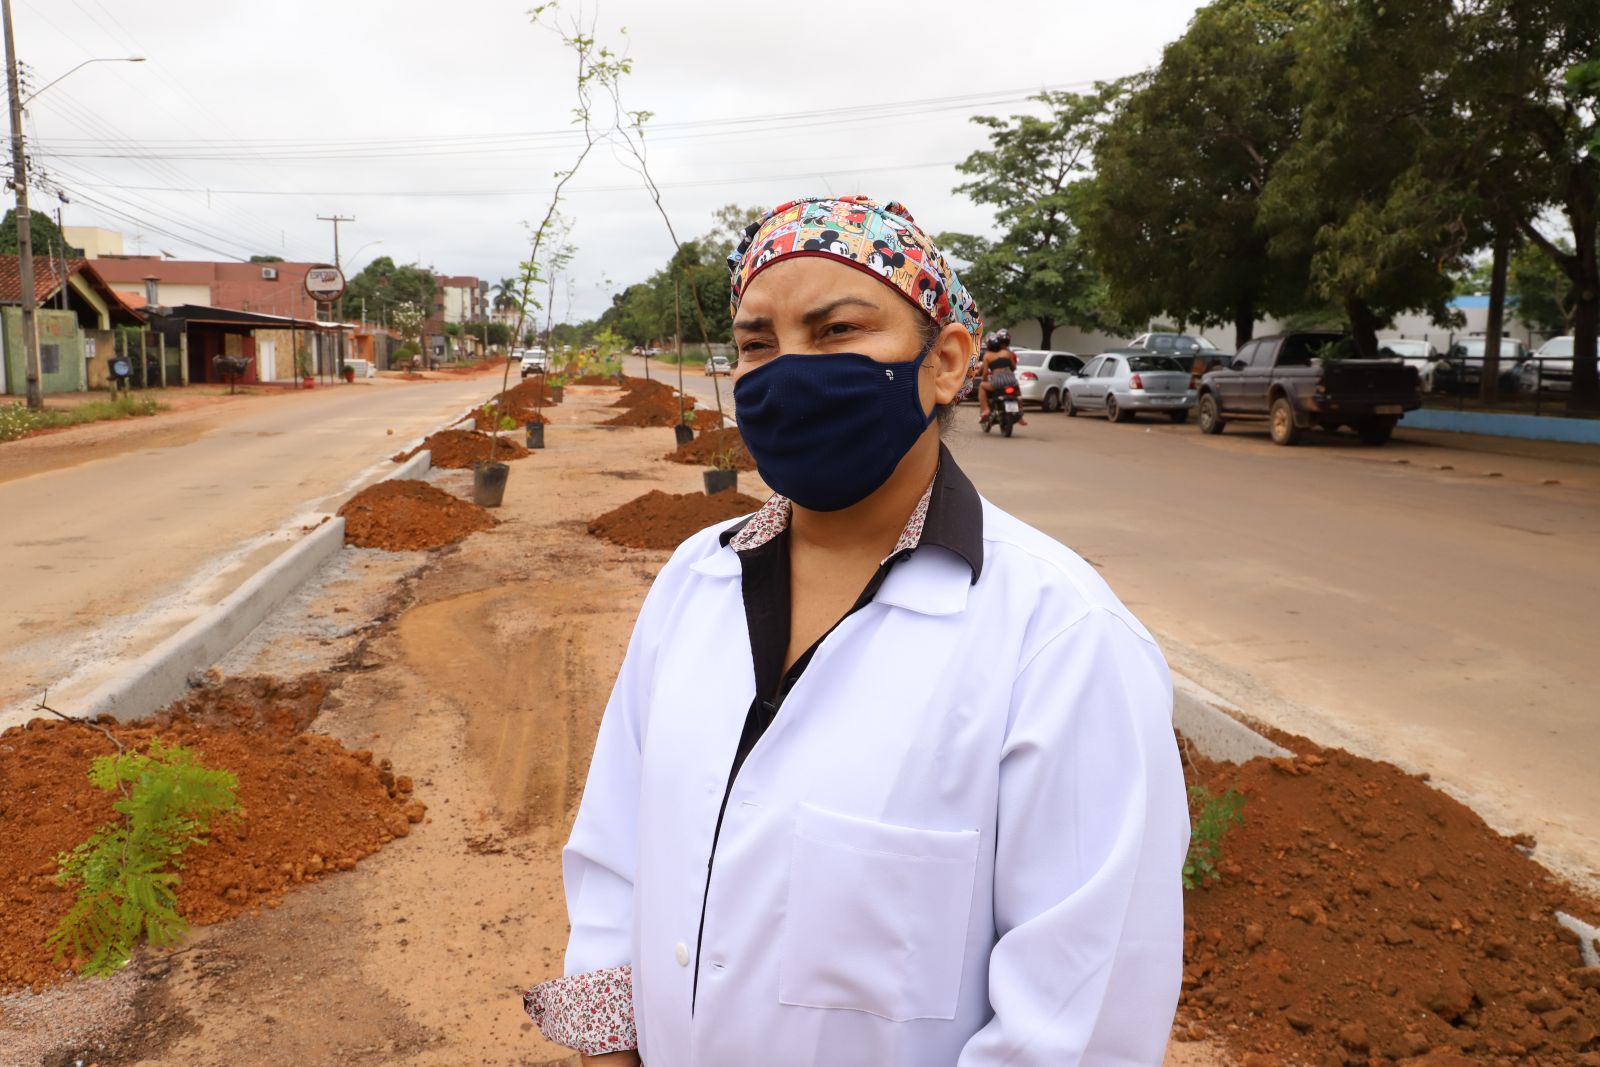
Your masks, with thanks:
<instances>
[{"instance_id":1,"label":"navy blue cloth face mask on the woman","mask_svg":"<svg viewBox=\"0 0 1600 1067\"><path fill-rule=\"evenodd\" d=\"M762 480L813 512L859 504L890 480L923 430L917 376L933 344L909 363L869 355L779 355L733 387L739 434Z\"/></svg>"}]
</instances>

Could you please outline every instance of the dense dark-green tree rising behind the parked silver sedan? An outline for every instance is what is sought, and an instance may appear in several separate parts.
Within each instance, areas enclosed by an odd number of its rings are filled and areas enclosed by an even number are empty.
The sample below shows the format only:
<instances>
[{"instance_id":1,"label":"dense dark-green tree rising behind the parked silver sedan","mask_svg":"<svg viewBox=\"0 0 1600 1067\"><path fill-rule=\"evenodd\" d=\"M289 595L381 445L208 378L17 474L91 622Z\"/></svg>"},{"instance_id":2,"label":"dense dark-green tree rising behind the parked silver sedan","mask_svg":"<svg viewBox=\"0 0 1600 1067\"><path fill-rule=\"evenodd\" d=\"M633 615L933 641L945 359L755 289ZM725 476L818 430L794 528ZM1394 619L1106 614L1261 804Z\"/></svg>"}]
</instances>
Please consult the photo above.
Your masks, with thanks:
<instances>
[{"instance_id":1,"label":"dense dark-green tree rising behind the parked silver sedan","mask_svg":"<svg viewBox=\"0 0 1600 1067\"><path fill-rule=\"evenodd\" d=\"M1094 147L1083 235L1125 318L1232 323L1304 304L1309 258L1267 254L1261 195L1299 128L1301 0L1218 0L1138 80Z\"/></svg>"}]
</instances>

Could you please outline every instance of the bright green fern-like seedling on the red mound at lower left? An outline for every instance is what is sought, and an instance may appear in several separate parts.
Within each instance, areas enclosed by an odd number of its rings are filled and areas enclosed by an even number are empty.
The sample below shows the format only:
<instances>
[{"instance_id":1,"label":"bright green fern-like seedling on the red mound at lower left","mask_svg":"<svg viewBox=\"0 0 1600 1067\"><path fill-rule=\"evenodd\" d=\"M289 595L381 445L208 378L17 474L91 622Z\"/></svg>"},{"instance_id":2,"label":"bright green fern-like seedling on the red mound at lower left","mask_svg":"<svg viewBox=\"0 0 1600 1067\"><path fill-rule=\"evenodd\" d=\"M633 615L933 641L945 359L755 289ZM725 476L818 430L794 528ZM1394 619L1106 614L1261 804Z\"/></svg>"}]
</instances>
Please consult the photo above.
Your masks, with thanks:
<instances>
[{"instance_id":1,"label":"bright green fern-like seedling on the red mound at lower left","mask_svg":"<svg viewBox=\"0 0 1600 1067\"><path fill-rule=\"evenodd\" d=\"M112 805L118 817L56 856L56 883L77 885L78 896L46 944L56 960L77 960L78 974L104 977L128 963L141 937L152 945L182 937L176 872L184 849L205 845L211 824L238 811L238 779L152 737L146 753L98 757L90 782L122 793Z\"/></svg>"}]
</instances>

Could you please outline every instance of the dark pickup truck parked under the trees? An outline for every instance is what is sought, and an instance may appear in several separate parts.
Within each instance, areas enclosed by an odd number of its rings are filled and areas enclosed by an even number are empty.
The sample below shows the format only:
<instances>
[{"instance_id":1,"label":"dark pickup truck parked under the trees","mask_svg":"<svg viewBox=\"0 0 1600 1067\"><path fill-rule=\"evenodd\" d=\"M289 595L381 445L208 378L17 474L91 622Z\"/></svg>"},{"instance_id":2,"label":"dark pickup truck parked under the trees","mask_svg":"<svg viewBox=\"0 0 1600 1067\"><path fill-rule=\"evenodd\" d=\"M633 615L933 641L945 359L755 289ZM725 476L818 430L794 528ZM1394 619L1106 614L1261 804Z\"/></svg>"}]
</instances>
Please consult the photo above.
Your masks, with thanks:
<instances>
[{"instance_id":1,"label":"dark pickup truck parked under the trees","mask_svg":"<svg viewBox=\"0 0 1600 1067\"><path fill-rule=\"evenodd\" d=\"M1283 333L1240 347L1227 366L1200 379L1200 430L1221 434L1230 419L1267 419L1272 440L1293 445L1312 426L1355 429L1382 445L1406 411L1422 406L1416 368L1387 360L1339 358L1338 333Z\"/></svg>"}]
</instances>

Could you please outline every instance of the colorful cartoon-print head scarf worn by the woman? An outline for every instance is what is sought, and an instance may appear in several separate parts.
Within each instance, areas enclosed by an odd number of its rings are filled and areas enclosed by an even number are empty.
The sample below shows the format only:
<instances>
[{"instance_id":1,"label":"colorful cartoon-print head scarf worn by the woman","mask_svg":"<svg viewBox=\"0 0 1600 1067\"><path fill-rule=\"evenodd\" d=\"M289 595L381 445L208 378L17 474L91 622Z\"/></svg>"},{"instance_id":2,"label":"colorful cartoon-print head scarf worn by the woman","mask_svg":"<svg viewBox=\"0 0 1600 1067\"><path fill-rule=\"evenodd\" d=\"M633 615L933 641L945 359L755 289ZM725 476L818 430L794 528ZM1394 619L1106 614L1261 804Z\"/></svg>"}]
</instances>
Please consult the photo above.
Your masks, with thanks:
<instances>
[{"instance_id":1,"label":"colorful cartoon-print head scarf worn by the woman","mask_svg":"<svg viewBox=\"0 0 1600 1067\"><path fill-rule=\"evenodd\" d=\"M978 304L906 205L869 197L806 197L778 205L744 230L744 240L728 256L733 309L739 309L757 274L789 256L832 256L872 274L941 326L962 323L973 334L968 386L978 374L984 328Z\"/></svg>"}]
</instances>

